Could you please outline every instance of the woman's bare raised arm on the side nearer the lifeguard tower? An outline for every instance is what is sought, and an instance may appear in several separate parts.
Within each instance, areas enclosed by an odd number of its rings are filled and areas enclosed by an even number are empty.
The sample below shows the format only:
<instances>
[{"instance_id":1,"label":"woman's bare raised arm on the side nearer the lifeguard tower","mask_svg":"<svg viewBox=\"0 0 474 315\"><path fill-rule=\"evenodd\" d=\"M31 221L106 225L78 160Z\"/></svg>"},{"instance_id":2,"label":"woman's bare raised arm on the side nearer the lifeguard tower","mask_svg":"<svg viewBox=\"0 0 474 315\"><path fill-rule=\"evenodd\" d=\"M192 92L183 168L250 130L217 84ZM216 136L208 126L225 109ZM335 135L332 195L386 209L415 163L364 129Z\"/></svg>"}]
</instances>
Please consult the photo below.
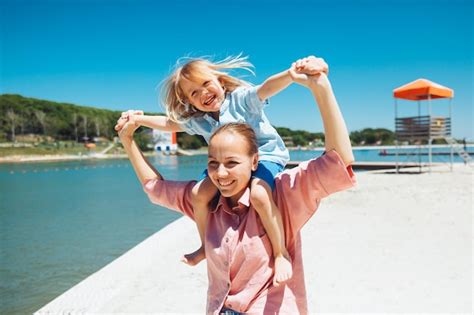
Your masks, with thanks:
<instances>
[{"instance_id":1,"label":"woman's bare raised arm on the side nearer the lifeguard tower","mask_svg":"<svg viewBox=\"0 0 474 315\"><path fill-rule=\"evenodd\" d=\"M344 163L350 165L354 162L354 155L349 133L327 75L324 72L316 75L304 74L312 73L312 69L319 68L321 62L324 60L312 58L303 68L297 69L294 65L289 73L295 82L311 90L318 104L324 125L326 151L335 150Z\"/></svg>"}]
</instances>

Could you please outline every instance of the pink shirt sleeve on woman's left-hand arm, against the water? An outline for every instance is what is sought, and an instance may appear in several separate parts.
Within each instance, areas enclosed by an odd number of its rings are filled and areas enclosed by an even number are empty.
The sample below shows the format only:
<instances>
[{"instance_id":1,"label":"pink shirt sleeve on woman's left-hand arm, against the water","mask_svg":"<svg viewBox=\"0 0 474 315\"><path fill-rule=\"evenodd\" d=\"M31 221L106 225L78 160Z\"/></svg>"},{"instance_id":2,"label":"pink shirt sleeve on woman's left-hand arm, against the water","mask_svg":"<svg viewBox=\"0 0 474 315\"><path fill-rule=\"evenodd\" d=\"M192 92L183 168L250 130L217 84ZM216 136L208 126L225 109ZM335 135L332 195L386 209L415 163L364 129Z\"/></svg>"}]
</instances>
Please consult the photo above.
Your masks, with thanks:
<instances>
[{"instance_id":1,"label":"pink shirt sleeve on woman's left-hand arm, against the water","mask_svg":"<svg viewBox=\"0 0 474 315\"><path fill-rule=\"evenodd\" d=\"M194 220L191 191L196 181L153 179L145 182L143 190L154 204L180 212Z\"/></svg>"}]
</instances>

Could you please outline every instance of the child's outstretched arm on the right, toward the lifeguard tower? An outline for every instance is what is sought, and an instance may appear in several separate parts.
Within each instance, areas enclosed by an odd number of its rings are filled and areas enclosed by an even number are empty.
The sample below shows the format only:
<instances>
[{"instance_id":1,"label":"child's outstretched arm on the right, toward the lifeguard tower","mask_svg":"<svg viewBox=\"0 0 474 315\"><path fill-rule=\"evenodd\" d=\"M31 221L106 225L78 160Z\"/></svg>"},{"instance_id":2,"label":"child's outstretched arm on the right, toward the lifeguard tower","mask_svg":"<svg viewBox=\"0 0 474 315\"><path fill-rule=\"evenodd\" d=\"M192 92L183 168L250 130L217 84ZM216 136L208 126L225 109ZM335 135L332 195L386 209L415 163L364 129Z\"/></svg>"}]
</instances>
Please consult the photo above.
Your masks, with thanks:
<instances>
[{"instance_id":1,"label":"child's outstretched arm on the right, toward the lifeguard tower","mask_svg":"<svg viewBox=\"0 0 474 315\"><path fill-rule=\"evenodd\" d=\"M320 59L320 62L317 64L318 68L315 68L313 66L312 69L309 71L306 65L314 65L315 59ZM292 68L294 68L297 73L305 73L308 75L315 75L321 72L324 72L326 74L328 73L328 65L324 62L324 60L321 58L316 58L314 56L298 59L291 65L290 69ZM290 69L274 74L268 79L266 79L265 82L263 82L262 85L260 85L257 89L258 98L261 101L266 100L267 98L272 97L273 95L281 92L282 90L290 86L290 84L293 83L293 79L290 75Z\"/></svg>"}]
</instances>

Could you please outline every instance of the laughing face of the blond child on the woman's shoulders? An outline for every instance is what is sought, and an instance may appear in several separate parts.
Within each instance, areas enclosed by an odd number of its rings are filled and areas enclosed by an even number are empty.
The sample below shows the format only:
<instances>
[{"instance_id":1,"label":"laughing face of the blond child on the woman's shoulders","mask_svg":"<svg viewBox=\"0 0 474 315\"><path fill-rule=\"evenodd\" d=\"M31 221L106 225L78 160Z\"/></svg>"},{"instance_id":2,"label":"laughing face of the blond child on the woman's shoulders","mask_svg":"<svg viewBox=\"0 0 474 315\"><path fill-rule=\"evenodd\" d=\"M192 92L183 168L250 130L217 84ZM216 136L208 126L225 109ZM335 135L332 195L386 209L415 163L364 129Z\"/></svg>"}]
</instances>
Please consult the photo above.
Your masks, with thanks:
<instances>
[{"instance_id":1,"label":"laughing face of the blond child on the woman's shoulders","mask_svg":"<svg viewBox=\"0 0 474 315\"><path fill-rule=\"evenodd\" d=\"M189 103L203 112L218 112L225 98L221 83L214 77L202 82L181 79L179 84Z\"/></svg>"}]
</instances>

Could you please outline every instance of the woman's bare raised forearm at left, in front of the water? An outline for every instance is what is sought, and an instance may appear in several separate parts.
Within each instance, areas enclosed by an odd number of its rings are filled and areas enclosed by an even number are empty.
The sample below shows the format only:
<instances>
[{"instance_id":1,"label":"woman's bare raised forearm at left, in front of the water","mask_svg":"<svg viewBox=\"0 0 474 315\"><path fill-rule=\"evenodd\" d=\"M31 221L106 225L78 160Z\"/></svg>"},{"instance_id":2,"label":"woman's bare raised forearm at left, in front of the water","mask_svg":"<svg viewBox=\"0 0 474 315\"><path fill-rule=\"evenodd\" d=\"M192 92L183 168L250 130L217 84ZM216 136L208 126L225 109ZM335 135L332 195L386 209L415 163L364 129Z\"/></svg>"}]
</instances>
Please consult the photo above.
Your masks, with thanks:
<instances>
[{"instance_id":1,"label":"woman's bare raised forearm at left, in front of the water","mask_svg":"<svg viewBox=\"0 0 474 315\"><path fill-rule=\"evenodd\" d=\"M123 118L121 118L123 119ZM119 119L120 120L120 119ZM145 159L142 152L138 148L133 134L138 126L132 122L126 122L119 131L119 138L125 149L125 152L132 163L133 169L137 174L141 184L144 185L147 181L153 179L163 179L161 174Z\"/></svg>"}]
</instances>

